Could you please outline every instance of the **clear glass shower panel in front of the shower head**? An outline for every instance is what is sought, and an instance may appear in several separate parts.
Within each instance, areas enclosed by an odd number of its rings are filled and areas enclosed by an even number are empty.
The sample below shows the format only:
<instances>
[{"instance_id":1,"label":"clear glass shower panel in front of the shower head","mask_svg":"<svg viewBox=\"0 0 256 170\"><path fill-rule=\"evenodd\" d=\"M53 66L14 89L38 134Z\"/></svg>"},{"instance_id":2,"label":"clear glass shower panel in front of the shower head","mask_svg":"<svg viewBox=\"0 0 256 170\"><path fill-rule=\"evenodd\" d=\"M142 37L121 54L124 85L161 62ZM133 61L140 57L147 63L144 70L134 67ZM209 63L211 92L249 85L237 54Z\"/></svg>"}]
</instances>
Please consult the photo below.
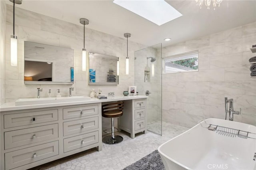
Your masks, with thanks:
<instances>
[{"instance_id":1,"label":"clear glass shower panel in front of the shower head","mask_svg":"<svg viewBox=\"0 0 256 170\"><path fill-rule=\"evenodd\" d=\"M135 51L135 85L148 95L147 129L162 135L162 44Z\"/></svg>"}]
</instances>

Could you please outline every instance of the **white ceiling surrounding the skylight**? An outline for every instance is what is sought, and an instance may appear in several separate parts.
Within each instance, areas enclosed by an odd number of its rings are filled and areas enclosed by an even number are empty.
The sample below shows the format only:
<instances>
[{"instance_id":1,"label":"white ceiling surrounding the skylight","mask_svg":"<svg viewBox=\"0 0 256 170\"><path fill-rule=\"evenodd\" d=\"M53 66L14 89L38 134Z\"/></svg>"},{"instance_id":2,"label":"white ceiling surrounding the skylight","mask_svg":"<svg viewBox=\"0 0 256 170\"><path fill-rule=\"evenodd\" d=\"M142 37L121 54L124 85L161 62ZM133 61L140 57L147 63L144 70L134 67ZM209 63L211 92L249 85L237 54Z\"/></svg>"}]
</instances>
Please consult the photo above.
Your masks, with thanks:
<instances>
[{"instance_id":1,"label":"white ceiling surrounding the skylight","mask_svg":"<svg viewBox=\"0 0 256 170\"><path fill-rule=\"evenodd\" d=\"M216 10L207 10L204 4L200 10L195 0L166 2L183 16L161 26L114 4L113 0L23 0L18 7L77 25L81 25L80 18L87 18L87 28L121 38L129 32L130 41L148 46L167 46L256 21L255 0L223 0ZM164 38L172 40L165 42Z\"/></svg>"}]
</instances>

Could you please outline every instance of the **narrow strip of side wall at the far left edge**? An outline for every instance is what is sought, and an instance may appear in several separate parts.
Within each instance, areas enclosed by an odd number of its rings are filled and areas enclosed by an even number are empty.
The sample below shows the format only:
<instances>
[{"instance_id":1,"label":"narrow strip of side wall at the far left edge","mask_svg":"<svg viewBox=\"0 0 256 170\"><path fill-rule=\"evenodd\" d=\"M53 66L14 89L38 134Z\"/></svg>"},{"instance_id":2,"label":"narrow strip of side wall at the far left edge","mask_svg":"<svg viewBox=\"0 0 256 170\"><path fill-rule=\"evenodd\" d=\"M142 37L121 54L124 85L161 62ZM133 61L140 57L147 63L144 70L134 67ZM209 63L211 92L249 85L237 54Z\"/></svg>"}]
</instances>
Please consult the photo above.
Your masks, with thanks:
<instances>
[{"instance_id":1,"label":"narrow strip of side wall at the far left edge","mask_svg":"<svg viewBox=\"0 0 256 170\"><path fill-rule=\"evenodd\" d=\"M5 102L6 1L0 1L0 104ZM9 37L10 38L10 37Z\"/></svg>"}]
</instances>

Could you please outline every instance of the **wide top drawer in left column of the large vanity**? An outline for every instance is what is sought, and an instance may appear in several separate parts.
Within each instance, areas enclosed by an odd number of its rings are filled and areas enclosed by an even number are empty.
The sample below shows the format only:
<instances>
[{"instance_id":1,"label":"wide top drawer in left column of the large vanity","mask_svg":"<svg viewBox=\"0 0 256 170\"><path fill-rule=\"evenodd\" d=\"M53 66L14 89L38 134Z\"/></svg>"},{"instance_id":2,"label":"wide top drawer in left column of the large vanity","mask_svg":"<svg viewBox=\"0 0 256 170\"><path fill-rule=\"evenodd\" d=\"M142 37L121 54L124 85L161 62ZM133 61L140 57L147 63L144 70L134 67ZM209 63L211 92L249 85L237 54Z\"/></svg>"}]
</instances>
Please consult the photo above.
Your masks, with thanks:
<instances>
[{"instance_id":1,"label":"wide top drawer in left column of the large vanity","mask_svg":"<svg viewBox=\"0 0 256 170\"><path fill-rule=\"evenodd\" d=\"M58 120L58 109L47 111L33 111L4 115L4 128L33 125Z\"/></svg>"}]
</instances>

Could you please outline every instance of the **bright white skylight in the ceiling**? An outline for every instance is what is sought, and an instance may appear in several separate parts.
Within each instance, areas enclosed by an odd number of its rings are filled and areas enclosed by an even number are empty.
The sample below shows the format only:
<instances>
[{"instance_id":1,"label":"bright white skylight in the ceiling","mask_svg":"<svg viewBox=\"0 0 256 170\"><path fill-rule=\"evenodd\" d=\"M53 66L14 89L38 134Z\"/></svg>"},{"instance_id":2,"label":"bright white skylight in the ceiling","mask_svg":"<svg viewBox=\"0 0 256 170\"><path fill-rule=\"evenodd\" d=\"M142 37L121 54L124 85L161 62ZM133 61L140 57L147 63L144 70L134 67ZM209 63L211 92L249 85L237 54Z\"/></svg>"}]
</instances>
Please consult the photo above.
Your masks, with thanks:
<instances>
[{"instance_id":1,"label":"bright white skylight in the ceiling","mask_svg":"<svg viewBox=\"0 0 256 170\"><path fill-rule=\"evenodd\" d=\"M113 2L158 26L182 16L164 0L114 0Z\"/></svg>"}]
</instances>

